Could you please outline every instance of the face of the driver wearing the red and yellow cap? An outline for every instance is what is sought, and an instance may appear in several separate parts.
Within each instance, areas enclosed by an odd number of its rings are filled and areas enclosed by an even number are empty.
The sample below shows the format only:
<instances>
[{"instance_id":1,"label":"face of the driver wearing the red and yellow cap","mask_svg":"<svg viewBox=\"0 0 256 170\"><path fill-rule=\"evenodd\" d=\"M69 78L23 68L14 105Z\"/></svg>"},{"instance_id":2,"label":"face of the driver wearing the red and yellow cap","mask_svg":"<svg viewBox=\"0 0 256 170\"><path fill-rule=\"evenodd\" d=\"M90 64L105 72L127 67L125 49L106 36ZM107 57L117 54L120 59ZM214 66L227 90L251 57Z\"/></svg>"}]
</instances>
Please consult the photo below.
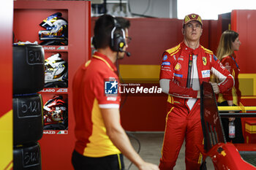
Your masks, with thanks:
<instances>
[{"instance_id":1,"label":"face of the driver wearing the red and yellow cap","mask_svg":"<svg viewBox=\"0 0 256 170\"><path fill-rule=\"evenodd\" d=\"M184 37L188 41L199 41L200 36L203 32L203 28L199 22L196 20L192 20L189 23L187 23L184 28Z\"/></svg>"}]
</instances>

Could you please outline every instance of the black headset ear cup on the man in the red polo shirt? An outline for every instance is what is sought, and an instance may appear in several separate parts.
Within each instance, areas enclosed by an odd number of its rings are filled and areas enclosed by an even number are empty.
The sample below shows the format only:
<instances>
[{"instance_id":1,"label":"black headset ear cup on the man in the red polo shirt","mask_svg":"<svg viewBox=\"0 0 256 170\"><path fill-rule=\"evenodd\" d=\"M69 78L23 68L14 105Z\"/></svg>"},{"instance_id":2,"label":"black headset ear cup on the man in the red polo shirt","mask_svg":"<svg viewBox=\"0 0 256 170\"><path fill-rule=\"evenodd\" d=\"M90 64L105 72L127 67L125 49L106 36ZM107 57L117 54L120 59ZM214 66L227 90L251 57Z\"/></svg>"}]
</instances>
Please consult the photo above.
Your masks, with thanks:
<instances>
[{"instance_id":1,"label":"black headset ear cup on the man in the red polo shirt","mask_svg":"<svg viewBox=\"0 0 256 170\"><path fill-rule=\"evenodd\" d=\"M124 29L121 28L121 25L118 23L116 18L114 18L114 17L113 17L113 23L114 23L114 27L111 31L110 48L113 51L122 52L124 46L126 45L125 32L124 32ZM121 33L120 33L120 31L117 32L116 30L120 30Z\"/></svg>"}]
</instances>

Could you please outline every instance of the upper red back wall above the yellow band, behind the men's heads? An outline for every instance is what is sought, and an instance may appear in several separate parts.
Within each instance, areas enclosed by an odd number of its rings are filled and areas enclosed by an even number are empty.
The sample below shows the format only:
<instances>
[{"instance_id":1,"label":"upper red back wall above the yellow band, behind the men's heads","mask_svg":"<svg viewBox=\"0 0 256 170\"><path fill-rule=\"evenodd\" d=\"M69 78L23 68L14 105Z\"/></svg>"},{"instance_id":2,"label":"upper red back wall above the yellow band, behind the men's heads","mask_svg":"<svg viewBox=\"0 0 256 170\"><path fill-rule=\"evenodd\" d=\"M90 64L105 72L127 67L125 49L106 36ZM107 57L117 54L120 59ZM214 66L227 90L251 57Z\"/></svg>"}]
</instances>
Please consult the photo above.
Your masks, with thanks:
<instances>
[{"instance_id":1,"label":"upper red back wall above the yellow band, behind the men's heads","mask_svg":"<svg viewBox=\"0 0 256 170\"><path fill-rule=\"evenodd\" d=\"M91 35L94 35L94 23L91 18ZM160 64L162 53L183 41L182 20L175 18L128 18L131 23L129 36L132 41L127 48L129 58L118 61L121 64ZM203 34L200 44L214 53L217 50L217 20L203 20Z\"/></svg>"}]
</instances>

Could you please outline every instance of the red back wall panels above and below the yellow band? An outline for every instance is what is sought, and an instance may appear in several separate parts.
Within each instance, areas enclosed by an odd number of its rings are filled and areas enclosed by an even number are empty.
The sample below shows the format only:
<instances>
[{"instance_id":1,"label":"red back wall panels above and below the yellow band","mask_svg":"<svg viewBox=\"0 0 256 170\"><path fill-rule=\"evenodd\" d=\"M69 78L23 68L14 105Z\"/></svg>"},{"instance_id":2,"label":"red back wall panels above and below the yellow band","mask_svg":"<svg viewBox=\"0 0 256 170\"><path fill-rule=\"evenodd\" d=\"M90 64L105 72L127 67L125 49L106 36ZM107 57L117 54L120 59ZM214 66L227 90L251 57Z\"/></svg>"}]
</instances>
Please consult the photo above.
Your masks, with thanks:
<instances>
[{"instance_id":1,"label":"red back wall panels above and below the yellow band","mask_svg":"<svg viewBox=\"0 0 256 170\"><path fill-rule=\"evenodd\" d=\"M91 35L94 35L92 18ZM160 65L162 53L183 41L182 20L167 18L129 18L132 42L127 51L131 56L118 61L124 65ZM200 44L214 53L217 50L217 20L203 20ZM146 72L141 70L141 72ZM139 73L138 73L139 74ZM122 75L121 75L122 76ZM138 80L140 81L140 80ZM158 83L158 77L154 80ZM121 124L127 131L164 131L167 95L122 97Z\"/></svg>"}]
</instances>

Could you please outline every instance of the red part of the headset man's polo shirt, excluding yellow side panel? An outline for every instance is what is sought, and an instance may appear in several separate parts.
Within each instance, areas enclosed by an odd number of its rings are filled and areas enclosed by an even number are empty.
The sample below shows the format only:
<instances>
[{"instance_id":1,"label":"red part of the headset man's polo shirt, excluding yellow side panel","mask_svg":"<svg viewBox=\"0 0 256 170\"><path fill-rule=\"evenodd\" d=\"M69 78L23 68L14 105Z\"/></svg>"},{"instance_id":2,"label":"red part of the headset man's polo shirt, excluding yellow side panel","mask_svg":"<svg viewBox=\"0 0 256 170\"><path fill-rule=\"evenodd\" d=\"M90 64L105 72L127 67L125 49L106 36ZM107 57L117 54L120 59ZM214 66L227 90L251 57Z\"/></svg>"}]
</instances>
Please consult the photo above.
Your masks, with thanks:
<instances>
[{"instance_id":1,"label":"red part of the headset man's polo shirt, excluding yellow side panel","mask_svg":"<svg viewBox=\"0 0 256 170\"><path fill-rule=\"evenodd\" d=\"M105 80L110 77L118 80L115 71L116 66L107 56L94 53L91 63L88 66L83 63L75 73L72 84L75 137L77 139L75 150L81 155L83 155L92 134L91 115L95 98L97 98L98 104L120 104L120 96L116 96L116 100L113 98L109 100L104 91Z\"/></svg>"}]
</instances>

